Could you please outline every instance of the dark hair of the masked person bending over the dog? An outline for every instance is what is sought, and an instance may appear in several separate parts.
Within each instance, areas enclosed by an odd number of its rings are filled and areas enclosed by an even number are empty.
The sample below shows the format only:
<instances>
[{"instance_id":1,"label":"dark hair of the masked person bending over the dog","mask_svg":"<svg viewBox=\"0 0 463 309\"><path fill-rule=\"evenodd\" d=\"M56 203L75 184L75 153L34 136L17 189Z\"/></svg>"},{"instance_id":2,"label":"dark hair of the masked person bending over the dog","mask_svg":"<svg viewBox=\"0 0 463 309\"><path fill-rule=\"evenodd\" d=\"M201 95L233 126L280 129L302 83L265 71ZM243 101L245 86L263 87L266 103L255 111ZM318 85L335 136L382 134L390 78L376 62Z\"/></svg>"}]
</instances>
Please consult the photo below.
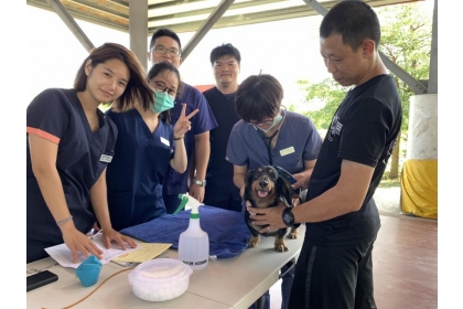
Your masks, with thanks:
<instances>
[{"instance_id":1,"label":"dark hair of the masked person bending over the dog","mask_svg":"<svg viewBox=\"0 0 463 309\"><path fill-rule=\"evenodd\" d=\"M235 96L235 108L239 118L262 121L273 117L281 106L283 87L271 75L251 75L239 85Z\"/></svg>"}]
</instances>

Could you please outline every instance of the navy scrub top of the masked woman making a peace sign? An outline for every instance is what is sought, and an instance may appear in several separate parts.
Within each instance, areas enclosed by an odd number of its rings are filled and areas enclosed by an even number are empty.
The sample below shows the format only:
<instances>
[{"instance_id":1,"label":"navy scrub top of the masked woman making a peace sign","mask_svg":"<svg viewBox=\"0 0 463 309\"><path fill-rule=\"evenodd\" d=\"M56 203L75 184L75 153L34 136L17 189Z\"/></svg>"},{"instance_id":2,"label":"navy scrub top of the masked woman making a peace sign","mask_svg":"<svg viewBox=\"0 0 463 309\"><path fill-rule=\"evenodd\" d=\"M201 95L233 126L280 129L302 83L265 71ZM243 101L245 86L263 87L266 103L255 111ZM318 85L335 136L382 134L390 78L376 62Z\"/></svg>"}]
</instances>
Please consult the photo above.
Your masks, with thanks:
<instances>
[{"instance_id":1,"label":"navy scrub top of the masked woman making a peace sign","mask_svg":"<svg viewBox=\"0 0 463 309\"><path fill-rule=\"evenodd\" d=\"M151 132L137 109L106 111L118 128L108 166L108 205L116 231L164 215L162 182L173 158L173 127L159 121Z\"/></svg>"}]
</instances>

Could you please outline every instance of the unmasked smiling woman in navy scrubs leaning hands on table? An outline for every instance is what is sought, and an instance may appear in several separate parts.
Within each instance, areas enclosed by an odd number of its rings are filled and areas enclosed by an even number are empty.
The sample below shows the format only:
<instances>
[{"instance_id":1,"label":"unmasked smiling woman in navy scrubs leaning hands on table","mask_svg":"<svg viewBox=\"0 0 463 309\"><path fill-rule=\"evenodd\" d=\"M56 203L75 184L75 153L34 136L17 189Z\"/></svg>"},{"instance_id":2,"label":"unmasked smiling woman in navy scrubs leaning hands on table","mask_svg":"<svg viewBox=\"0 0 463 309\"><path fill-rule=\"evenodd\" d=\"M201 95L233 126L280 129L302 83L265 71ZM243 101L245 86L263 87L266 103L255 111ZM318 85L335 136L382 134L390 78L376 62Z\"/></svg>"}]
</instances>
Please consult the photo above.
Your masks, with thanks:
<instances>
[{"instance_id":1,"label":"unmasked smiling woman in navy scrubs leaning hands on table","mask_svg":"<svg viewBox=\"0 0 463 309\"><path fill-rule=\"evenodd\" d=\"M28 107L28 263L62 244L77 254L103 252L86 236L95 222L106 247L134 247L109 219L106 167L115 156L117 128L98 109L100 103L131 106L152 102L142 66L122 45L105 43L85 58L71 89L51 88Z\"/></svg>"}]
</instances>

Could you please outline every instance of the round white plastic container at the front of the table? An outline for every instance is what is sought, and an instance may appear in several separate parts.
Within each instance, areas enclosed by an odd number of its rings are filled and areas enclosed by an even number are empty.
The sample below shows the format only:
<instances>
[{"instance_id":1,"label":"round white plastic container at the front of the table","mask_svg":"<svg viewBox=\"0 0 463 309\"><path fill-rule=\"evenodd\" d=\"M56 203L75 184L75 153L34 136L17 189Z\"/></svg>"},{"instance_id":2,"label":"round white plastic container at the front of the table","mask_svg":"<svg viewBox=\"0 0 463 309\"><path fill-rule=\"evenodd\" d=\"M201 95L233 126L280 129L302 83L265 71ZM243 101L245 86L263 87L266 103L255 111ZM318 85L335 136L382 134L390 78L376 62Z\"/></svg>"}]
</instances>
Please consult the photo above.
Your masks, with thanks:
<instances>
[{"instance_id":1,"label":"round white plastic container at the front of the table","mask_svg":"<svg viewBox=\"0 0 463 309\"><path fill-rule=\"evenodd\" d=\"M129 274L133 294L149 301L165 301L184 294L192 268L174 258L155 258L137 266Z\"/></svg>"}]
</instances>

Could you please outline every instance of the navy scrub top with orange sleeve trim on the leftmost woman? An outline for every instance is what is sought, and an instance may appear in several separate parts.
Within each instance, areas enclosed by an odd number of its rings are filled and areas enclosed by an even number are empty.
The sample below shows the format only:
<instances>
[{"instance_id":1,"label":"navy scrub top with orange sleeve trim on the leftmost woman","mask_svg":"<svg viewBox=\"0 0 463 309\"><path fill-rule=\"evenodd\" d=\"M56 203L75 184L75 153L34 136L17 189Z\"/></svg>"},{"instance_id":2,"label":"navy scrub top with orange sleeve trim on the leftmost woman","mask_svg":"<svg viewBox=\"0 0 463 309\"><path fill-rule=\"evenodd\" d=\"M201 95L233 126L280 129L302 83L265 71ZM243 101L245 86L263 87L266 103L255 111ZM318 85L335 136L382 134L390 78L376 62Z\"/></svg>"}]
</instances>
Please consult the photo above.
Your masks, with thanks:
<instances>
[{"instance_id":1,"label":"navy scrub top with orange sleeve trim on the leftmost woman","mask_svg":"<svg viewBox=\"0 0 463 309\"><path fill-rule=\"evenodd\" d=\"M98 117L100 128L93 132L74 89L46 89L28 106L28 135L58 145L56 169L74 225L82 233L90 231L96 221L89 190L111 160L117 137L115 124L100 110ZM28 139L26 161L26 236L61 244L62 233L32 172Z\"/></svg>"}]
</instances>

